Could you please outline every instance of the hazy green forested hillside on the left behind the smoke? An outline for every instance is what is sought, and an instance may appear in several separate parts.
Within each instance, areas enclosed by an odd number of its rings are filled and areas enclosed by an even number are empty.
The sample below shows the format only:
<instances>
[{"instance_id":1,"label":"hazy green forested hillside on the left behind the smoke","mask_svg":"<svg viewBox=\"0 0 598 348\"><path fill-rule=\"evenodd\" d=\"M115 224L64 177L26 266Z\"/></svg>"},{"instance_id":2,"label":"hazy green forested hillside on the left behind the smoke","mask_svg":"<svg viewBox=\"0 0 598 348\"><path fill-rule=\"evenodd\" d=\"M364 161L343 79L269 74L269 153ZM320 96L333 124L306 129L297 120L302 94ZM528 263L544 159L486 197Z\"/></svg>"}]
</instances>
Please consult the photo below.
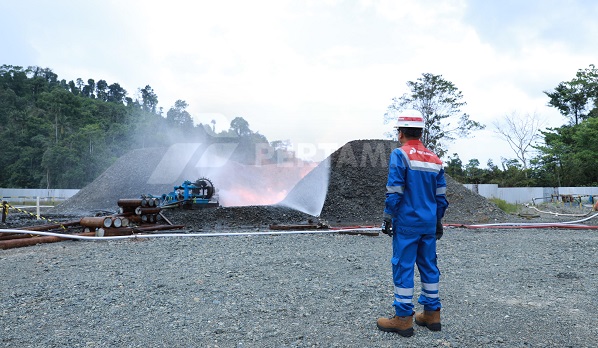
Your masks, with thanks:
<instances>
[{"instance_id":1,"label":"hazy green forested hillside on the left behind the smoke","mask_svg":"<svg viewBox=\"0 0 598 348\"><path fill-rule=\"evenodd\" d=\"M82 188L137 148L235 141L251 152L268 144L242 117L216 134L213 123L194 125L183 100L164 114L151 86L135 95L105 80L67 82L48 68L1 66L0 187Z\"/></svg>"}]
</instances>

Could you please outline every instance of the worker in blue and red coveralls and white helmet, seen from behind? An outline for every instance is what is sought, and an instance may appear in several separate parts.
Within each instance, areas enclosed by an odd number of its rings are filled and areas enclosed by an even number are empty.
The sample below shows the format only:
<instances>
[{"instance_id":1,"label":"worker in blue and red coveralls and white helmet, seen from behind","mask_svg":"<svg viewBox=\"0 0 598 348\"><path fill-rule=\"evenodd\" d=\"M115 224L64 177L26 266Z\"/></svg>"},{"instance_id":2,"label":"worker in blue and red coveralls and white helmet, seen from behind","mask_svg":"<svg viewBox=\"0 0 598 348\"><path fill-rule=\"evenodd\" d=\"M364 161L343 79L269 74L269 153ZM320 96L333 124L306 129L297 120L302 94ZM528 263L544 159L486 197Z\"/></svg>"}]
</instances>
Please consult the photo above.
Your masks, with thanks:
<instances>
[{"instance_id":1,"label":"worker in blue and red coveralls and white helmet, seen from behind","mask_svg":"<svg viewBox=\"0 0 598 348\"><path fill-rule=\"evenodd\" d=\"M382 232L392 237L395 316L378 319L382 331L413 335L414 266L421 278L418 302L423 311L415 323L440 331L440 271L436 241L448 207L442 161L420 141L424 119L417 113L398 117L401 147L390 155Z\"/></svg>"}]
</instances>

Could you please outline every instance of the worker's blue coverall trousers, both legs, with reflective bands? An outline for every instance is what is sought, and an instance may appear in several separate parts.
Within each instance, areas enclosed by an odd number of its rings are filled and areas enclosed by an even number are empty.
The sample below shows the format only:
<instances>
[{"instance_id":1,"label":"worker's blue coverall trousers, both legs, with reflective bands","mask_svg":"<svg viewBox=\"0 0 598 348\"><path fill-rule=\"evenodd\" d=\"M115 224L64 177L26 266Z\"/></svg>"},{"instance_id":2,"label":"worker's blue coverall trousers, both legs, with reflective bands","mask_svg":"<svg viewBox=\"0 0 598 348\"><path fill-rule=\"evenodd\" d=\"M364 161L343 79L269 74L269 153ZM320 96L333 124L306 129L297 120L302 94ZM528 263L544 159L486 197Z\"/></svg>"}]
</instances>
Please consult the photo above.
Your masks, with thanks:
<instances>
[{"instance_id":1,"label":"worker's blue coverall trousers, both legs, with reflective bands","mask_svg":"<svg viewBox=\"0 0 598 348\"><path fill-rule=\"evenodd\" d=\"M436 235L401 234L395 231L392 237L392 274L394 281L394 302L397 316L413 314L413 274L417 264L421 279L421 294L418 302L426 311L441 308L438 296L440 271L436 264Z\"/></svg>"}]
</instances>

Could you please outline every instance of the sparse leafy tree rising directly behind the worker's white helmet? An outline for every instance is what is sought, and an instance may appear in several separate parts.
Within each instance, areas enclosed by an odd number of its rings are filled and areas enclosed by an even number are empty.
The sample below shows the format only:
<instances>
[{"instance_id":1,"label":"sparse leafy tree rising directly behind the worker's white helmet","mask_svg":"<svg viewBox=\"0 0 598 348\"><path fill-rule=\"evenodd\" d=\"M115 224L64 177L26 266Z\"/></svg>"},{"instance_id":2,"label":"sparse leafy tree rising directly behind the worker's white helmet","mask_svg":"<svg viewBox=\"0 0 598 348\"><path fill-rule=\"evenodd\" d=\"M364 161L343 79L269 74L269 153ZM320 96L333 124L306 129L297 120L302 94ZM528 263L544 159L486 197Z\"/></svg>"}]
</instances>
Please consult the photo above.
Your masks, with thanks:
<instances>
[{"instance_id":1,"label":"sparse leafy tree rising directly behind the worker's white helmet","mask_svg":"<svg viewBox=\"0 0 598 348\"><path fill-rule=\"evenodd\" d=\"M425 121L422 142L442 157L447 143L455 137L468 137L471 131L484 129L461 111L467 103L455 85L442 75L422 74L417 81L407 82L410 92L393 98L384 114L384 123L396 119L397 113L406 109L420 112ZM456 119L456 123L454 121Z\"/></svg>"}]
</instances>

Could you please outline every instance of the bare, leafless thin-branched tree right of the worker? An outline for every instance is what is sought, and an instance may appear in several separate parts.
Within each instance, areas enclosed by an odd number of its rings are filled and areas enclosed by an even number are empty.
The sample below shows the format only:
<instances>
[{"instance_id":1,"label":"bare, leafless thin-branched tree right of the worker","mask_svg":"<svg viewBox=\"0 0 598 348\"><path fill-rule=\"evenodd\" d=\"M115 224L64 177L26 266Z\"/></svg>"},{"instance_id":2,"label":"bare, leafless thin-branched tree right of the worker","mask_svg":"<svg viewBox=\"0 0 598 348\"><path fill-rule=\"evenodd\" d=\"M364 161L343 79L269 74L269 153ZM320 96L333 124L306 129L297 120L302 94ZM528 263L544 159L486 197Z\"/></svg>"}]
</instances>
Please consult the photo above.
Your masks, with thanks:
<instances>
[{"instance_id":1,"label":"bare, leafless thin-branched tree right of the worker","mask_svg":"<svg viewBox=\"0 0 598 348\"><path fill-rule=\"evenodd\" d=\"M493 122L494 132L509 144L517 159L523 164L523 169L528 168L529 151L542 137L539 130L543 124L544 121L536 113L521 116L515 111L505 115L502 121Z\"/></svg>"}]
</instances>

